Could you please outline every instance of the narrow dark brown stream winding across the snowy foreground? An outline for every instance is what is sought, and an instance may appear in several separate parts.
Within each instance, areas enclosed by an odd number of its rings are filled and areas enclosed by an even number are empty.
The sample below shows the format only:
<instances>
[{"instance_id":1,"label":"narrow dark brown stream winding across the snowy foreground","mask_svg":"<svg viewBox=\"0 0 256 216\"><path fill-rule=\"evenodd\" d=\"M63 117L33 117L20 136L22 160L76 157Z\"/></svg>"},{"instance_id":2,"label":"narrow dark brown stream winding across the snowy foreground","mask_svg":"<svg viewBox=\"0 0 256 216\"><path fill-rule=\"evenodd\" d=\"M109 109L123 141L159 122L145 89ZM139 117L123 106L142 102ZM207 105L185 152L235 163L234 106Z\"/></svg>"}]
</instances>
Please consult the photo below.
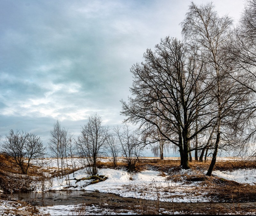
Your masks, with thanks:
<instances>
[{"instance_id":1,"label":"narrow dark brown stream winding across the snowy foreground","mask_svg":"<svg viewBox=\"0 0 256 216\"><path fill-rule=\"evenodd\" d=\"M4 197L4 195L2 195ZM18 199L19 195L14 194L13 198ZM11 197L7 197L11 198ZM31 205L35 201L35 193L21 193L20 200L29 202ZM185 212L186 210L197 209L204 211L212 208L252 208L255 206L254 202L248 203L171 203L171 202L157 202L154 200L141 200L136 198L120 197L111 193L100 193L96 191L84 191L84 190L66 190L66 191L49 191L44 193L43 199L44 205L97 205L102 209L108 206L109 209L135 209L136 206L151 206L153 208L158 207L161 212ZM36 194L36 204L42 205L41 193ZM200 210L201 209L201 210Z\"/></svg>"}]
</instances>

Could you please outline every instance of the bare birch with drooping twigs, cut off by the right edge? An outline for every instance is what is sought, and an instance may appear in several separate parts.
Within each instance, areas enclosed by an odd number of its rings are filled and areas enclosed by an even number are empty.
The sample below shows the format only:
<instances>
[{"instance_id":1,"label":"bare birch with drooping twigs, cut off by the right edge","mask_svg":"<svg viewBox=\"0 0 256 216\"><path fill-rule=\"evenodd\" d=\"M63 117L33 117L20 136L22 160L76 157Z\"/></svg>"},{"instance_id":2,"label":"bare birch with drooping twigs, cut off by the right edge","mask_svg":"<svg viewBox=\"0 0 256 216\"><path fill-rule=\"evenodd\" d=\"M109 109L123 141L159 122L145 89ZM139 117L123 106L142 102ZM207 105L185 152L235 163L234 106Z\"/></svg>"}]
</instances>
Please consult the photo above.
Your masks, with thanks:
<instances>
[{"instance_id":1,"label":"bare birch with drooping twigs, cut off by the right edge","mask_svg":"<svg viewBox=\"0 0 256 216\"><path fill-rule=\"evenodd\" d=\"M247 108L250 118L244 119L246 130L243 133L243 140L240 142L244 149L239 149L236 153L240 156L255 156L256 2L254 0L245 1L244 11L228 48L232 66L238 71L236 76L231 74L232 78L254 93L252 104Z\"/></svg>"}]
</instances>

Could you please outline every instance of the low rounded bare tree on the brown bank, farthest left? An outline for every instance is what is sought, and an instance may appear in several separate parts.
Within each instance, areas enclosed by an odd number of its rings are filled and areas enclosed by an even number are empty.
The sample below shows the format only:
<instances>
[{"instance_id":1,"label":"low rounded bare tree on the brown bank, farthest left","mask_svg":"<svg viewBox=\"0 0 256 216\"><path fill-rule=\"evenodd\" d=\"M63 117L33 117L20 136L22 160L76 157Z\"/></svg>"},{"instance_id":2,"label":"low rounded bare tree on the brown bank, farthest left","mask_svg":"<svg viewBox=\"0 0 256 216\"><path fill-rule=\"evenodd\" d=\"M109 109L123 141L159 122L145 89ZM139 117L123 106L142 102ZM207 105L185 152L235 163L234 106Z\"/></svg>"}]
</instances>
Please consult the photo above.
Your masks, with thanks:
<instances>
[{"instance_id":1,"label":"low rounded bare tree on the brown bank, farthest left","mask_svg":"<svg viewBox=\"0 0 256 216\"><path fill-rule=\"evenodd\" d=\"M46 148L39 136L10 130L2 144L2 149L20 166L22 174L27 174L31 159L42 157Z\"/></svg>"}]
</instances>

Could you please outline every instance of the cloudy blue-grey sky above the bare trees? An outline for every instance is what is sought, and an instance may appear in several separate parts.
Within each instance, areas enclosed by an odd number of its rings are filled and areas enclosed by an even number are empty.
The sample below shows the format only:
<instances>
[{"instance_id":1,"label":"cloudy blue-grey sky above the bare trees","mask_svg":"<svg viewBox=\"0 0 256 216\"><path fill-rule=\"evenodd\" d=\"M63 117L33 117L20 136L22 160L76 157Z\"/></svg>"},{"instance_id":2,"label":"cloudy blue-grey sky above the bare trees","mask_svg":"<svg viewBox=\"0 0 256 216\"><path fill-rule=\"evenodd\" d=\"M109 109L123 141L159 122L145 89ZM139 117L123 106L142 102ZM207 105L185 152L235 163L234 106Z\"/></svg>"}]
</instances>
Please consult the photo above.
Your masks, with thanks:
<instances>
[{"instance_id":1,"label":"cloudy blue-grey sky above the bare trees","mask_svg":"<svg viewBox=\"0 0 256 216\"><path fill-rule=\"evenodd\" d=\"M194 3L207 3L195 0ZM213 1L237 22L243 0ZM0 135L39 135L57 119L78 135L89 115L121 125L133 64L161 38L181 37L189 0L1 0Z\"/></svg>"}]
</instances>

